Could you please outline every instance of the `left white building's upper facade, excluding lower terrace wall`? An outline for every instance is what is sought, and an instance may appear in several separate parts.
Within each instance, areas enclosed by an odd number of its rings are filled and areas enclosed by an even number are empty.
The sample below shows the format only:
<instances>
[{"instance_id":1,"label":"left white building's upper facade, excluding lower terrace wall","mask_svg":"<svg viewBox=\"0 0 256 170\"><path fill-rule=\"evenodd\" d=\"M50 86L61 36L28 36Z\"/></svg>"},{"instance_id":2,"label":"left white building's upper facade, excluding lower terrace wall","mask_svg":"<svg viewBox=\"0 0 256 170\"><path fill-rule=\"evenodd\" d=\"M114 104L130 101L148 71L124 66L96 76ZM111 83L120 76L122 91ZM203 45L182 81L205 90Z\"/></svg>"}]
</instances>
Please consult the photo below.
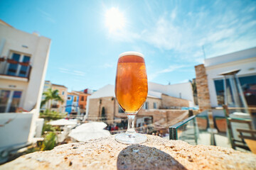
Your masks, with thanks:
<instances>
[{"instance_id":1,"label":"left white building's upper facade, excluding lower terrace wall","mask_svg":"<svg viewBox=\"0 0 256 170\"><path fill-rule=\"evenodd\" d=\"M39 111L50 39L0 22L0 113Z\"/></svg>"}]
</instances>

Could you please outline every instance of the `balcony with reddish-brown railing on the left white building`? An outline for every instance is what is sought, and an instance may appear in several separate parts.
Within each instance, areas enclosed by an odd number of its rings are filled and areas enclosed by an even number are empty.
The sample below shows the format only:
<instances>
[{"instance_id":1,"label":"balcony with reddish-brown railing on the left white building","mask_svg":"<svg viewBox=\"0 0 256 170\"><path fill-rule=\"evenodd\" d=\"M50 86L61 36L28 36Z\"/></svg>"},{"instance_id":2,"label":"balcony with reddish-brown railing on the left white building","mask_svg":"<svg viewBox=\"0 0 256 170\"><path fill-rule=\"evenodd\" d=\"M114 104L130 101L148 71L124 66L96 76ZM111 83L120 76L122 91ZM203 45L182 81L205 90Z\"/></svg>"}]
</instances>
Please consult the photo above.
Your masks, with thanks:
<instances>
[{"instance_id":1,"label":"balcony with reddish-brown railing on the left white building","mask_svg":"<svg viewBox=\"0 0 256 170\"><path fill-rule=\"evenodd\" d=\"M17 62L16 60L0 57L0 78L19 81L29 81L32 66L29 62Z\"/></svg>"}]
</instances>

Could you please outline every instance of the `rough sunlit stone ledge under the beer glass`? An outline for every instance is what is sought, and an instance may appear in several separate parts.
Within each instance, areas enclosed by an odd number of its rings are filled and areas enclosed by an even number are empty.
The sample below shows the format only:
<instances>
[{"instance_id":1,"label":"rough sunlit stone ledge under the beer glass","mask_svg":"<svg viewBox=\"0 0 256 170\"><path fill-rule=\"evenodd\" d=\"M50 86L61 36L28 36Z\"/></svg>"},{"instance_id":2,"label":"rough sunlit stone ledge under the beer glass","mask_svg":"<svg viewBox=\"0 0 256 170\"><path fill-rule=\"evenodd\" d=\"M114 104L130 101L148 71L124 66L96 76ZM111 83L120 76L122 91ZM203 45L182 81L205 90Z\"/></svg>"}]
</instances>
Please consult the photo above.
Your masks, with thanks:
<instances>
[{"instance_id":1,"label":"rough sunlit stone ledge under the beer glass","mask_svg":"<svg viewBox=\"0 0 256 170\"><path fill-rule=\"evenodd\" d=\"M60 145L26 154L0 169L256 169L256 154L147 137L142 145L123 145L114 136Z\"/></svg>"}]
</instances>

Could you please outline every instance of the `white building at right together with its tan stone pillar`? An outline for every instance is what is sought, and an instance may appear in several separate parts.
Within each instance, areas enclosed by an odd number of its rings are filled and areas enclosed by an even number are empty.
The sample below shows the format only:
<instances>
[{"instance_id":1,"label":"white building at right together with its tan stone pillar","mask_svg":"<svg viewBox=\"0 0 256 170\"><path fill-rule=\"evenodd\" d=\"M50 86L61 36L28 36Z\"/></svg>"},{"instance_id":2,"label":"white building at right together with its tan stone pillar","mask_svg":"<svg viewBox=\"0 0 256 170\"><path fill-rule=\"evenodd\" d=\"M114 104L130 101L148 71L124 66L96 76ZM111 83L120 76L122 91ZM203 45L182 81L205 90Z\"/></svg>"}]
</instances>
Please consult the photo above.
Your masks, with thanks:
<instances>
[{"instance_id":1,"label":"white building at right together with its tan stone pillar","mask_svg":"<svg viewBox=\"0 0 256 170\"><path fill-rule=\"evenodd\" d=\"M203 111L224 103L223 72L240 69L237 77L247 105L256 106L256 47L204 60L196 67L198 105Z\"/></svg>"}]
</instances>

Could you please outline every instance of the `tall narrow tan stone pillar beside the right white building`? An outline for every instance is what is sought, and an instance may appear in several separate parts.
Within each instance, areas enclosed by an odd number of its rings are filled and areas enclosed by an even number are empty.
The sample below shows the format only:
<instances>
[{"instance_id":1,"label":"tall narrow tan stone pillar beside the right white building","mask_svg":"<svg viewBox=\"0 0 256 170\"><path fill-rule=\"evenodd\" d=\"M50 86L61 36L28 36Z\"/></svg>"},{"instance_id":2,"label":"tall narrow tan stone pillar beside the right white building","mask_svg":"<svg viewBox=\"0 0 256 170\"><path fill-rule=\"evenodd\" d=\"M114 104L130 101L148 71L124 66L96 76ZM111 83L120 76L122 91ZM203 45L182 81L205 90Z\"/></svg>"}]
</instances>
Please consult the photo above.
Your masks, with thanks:
<instances>
[{"instance_id":1,"label":"tall narrow tan stone pillar beside the right white building","mask_svg":"<svg viewBox=\"0 0 256 170\"><path fill-rule=\"evenodd\" d=\"M208 79L206 68L203 64L195 66L196 69L196 89L198 94L198 106L200 111L210 109L210 93L208 89Z\"/></svg>"}]
</instances>

